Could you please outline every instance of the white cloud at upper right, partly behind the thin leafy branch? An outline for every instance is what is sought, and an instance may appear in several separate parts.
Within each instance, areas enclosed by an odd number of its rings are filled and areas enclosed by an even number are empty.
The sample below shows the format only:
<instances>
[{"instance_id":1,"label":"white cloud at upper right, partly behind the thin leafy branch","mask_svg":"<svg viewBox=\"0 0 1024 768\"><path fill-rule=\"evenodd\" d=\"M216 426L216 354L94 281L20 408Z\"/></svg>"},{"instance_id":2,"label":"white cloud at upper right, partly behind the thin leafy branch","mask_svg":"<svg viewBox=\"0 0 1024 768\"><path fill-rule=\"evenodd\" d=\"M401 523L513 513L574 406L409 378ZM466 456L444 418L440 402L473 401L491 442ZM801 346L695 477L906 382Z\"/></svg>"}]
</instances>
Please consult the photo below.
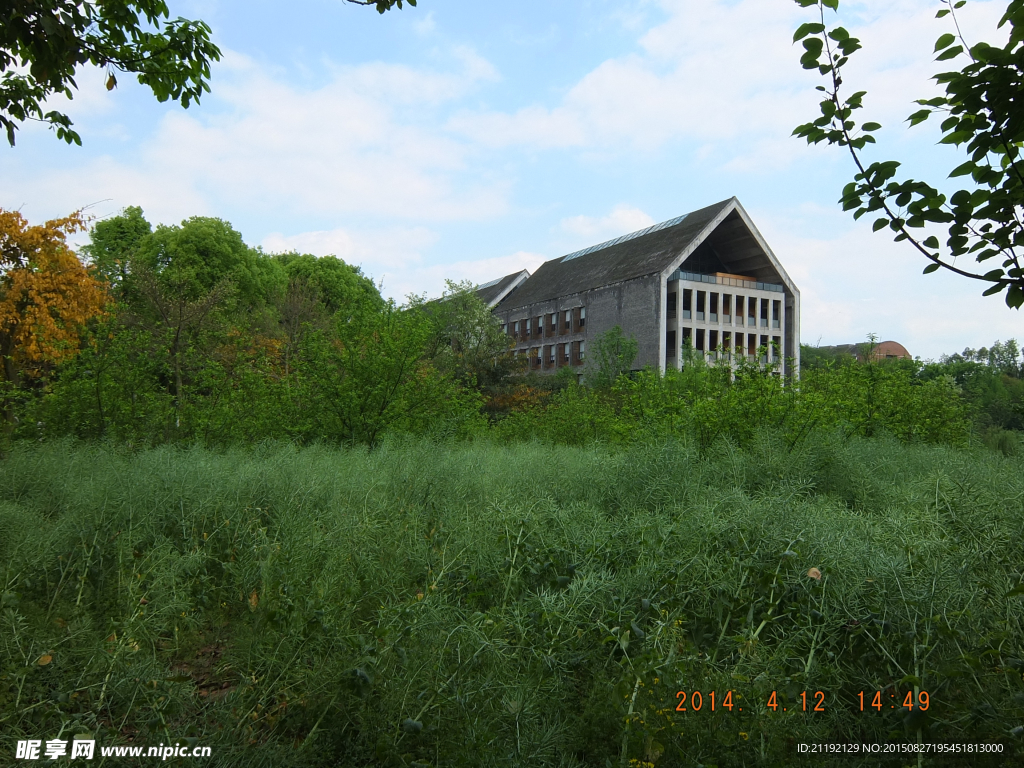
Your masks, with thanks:
<instances>
[{"instance_id":1,"label":"white cloud at upper right, partly behind the thin leafy branch","mask_svg":"<svg viewBox=\"0 0 1024 768\"><path fill-rule=\"evenodd\" d=\"M777 170L802 151L793 128L818 115L823 82L802 70L795 29L811 20L792 3L662 0L669 18L646 31L639 49L608 58L568 85L556 103L514 111L462 111L449 127L489 146L617 147L652 151L670 141L716 142L722 165ZM997 2L959 11L968 34L994 33ZM946 31L929 0L844 3L844 24L863 50L851 57L848 93L867 90L862 121L902 131L914 98L933 95L942 68L932 43ZM867 117L867 116L870 117ZM920 135L920 134L919 134ZM806 152L806 150L804 150Z\"/></svg>"}]
</instances>

